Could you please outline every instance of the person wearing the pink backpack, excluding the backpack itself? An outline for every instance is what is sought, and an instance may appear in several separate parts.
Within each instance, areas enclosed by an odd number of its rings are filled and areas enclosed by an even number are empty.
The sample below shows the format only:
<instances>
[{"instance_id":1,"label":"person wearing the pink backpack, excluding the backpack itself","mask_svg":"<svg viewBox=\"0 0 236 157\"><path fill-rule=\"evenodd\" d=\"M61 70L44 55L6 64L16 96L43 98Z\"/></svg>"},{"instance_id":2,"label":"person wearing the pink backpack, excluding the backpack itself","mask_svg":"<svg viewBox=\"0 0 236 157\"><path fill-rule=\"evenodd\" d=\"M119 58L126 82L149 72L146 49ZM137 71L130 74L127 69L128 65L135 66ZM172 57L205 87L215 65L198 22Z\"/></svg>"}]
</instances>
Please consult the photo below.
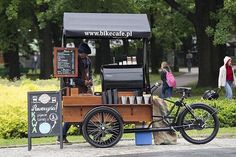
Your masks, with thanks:
<instances>
[{"instance_id":1,"label":"person wearing the pink backpack, excluding the backpack itself","mask_svg":"<svg viewBox=\"0 0 236 157\"><path fill-rule=\"evenodd\" d=\"M161 80L162 80L163 84L162 84L162 89L161 89L161 98L166 98L166 92L167 92L168 98L172 97L173 87L169 87L166 82L166 72L167 71L171 72L170 67L168 66L167 62L162 62L161 63Z\"/></svg>"}]
</instances>

